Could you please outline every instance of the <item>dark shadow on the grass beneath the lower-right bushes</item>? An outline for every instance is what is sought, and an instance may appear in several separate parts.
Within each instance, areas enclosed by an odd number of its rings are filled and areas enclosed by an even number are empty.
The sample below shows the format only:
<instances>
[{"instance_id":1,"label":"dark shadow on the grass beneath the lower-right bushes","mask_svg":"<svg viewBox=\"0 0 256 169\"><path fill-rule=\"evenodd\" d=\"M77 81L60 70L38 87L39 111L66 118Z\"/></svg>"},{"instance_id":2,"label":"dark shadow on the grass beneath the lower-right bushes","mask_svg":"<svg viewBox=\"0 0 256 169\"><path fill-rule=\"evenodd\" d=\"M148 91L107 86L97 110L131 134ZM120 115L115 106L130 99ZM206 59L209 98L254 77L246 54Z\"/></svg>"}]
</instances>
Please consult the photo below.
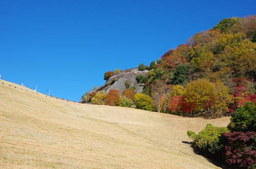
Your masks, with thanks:
<instances>
[{"instance_id":1,"label":"dark shadow on the grass beneath the lower-right bushes","mask_svg":"<svg viewBox=\"0 0 256 169\"><path fill-rule=\"evenodd\" d=\"M206 158L210 163L218 166L218 167L221 167L223 169L232 169L233 167L231 167L230 165L226 164L224 161L216 158L216 157L212 157L212 156L209 156L209 155L205 155L203 153L200 153L199 150L195 147L194 143L193 142L186 142L186 141L182 141L182 143L184 144L187 144L187 145L190 145L190 147L193 149L194 153L197 154L197 155L201 155L203 156L204 158Z\"/></svg>"}]
</instances>

